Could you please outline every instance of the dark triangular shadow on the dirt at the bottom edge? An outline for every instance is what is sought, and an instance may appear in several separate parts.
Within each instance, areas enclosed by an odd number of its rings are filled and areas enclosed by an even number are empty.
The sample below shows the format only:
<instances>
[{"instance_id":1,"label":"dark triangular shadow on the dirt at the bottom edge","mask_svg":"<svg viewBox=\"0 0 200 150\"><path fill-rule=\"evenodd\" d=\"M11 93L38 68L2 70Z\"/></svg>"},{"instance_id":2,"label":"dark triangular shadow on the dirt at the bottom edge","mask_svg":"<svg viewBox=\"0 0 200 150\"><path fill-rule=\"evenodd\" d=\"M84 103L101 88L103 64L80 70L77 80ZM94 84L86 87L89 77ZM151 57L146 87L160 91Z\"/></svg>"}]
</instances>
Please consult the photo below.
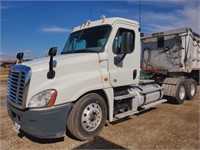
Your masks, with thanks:
<instances>
[{"instance_id":1,"label":"dark triangular shadow on the dirt at the bottom edge","mask_svg":"<svg viewBox=\"0 0 200 150\"><path fill-rule=\"evenodd\" d=\"M126 149L126 148L98 136L93 140L74 148L74 150L75 149Z\"/></svg>"}]
</instances>

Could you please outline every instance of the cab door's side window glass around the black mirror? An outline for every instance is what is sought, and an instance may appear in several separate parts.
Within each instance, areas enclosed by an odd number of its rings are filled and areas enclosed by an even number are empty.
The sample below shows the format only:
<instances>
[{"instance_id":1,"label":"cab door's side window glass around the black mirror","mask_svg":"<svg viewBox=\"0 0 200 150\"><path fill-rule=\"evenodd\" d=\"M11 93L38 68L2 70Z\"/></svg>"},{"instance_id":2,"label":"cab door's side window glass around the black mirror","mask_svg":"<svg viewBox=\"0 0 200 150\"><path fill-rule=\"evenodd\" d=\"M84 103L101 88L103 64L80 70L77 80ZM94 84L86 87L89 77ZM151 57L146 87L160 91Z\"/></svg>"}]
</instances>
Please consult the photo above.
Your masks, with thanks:
<instances>
[{"instance_id":1,"label":"cab door's side window glass around the black mirror","mask_svg":"<svg viewBox=\"0 0 200 150\"><path fill-rule=\"evenodd\" d=\"M113 53L114 54L120 54L121 46L122 46L122 34L124 32L130 32L132 34L132 52L134 50L135 46L135 32L133 30L123 29L119 28L117 31L117 34L115 36L114 42L113 42Z\"/></svg>"}]
</instances>

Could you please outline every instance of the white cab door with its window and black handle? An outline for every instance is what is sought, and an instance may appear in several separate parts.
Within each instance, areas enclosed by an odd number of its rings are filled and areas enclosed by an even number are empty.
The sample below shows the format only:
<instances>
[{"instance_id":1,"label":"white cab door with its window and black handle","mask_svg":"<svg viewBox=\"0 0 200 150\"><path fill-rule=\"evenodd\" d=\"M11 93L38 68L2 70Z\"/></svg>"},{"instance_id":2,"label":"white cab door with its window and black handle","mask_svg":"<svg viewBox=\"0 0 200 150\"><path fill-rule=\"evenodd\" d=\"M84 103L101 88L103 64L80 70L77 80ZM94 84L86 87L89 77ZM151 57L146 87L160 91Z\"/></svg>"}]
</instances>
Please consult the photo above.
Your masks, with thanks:
<instances>
[{"instance_id":1,"label":"white cab door with its window and black handle","mask_svg":"<svg viewBox=\"0 0 200 150\"><path fill-rule=\"evenodd\" d=\"M131 35L131 41L126 41L124 34ZM123 41L131 44L128 54L122 52ZM130 39L129 39L130 40ZM123 42L123 43L122 43ZM137 44L136 44L137 43ZM140 37L137 25L117 22L113 25L108 45L108 71L113 87L138 83L140 71Z\"/></svg>"}]
</instances>

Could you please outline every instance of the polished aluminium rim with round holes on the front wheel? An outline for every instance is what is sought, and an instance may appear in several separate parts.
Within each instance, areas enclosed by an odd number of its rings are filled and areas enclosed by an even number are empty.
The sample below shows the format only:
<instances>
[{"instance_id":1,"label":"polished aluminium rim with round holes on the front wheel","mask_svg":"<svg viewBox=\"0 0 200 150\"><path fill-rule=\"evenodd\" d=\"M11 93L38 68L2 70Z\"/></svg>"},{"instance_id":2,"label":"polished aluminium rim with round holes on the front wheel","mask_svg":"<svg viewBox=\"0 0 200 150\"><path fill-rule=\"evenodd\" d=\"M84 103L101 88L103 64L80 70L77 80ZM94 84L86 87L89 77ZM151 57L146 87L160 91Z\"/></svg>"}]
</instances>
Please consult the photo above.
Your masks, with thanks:
<instances>
[{"instance_id":1,"label":"polished aluminium rim with round holes on the front wheel","mask_svg":"<svg viewBox=\"0 0 200 150\"><path fill-rule=\"evenodd\" d=\"M83 111L81 125L85 131L91 132L99 126L101 119L101 107L96 103L91 103Z\"/></svg>"}]
</instances>

